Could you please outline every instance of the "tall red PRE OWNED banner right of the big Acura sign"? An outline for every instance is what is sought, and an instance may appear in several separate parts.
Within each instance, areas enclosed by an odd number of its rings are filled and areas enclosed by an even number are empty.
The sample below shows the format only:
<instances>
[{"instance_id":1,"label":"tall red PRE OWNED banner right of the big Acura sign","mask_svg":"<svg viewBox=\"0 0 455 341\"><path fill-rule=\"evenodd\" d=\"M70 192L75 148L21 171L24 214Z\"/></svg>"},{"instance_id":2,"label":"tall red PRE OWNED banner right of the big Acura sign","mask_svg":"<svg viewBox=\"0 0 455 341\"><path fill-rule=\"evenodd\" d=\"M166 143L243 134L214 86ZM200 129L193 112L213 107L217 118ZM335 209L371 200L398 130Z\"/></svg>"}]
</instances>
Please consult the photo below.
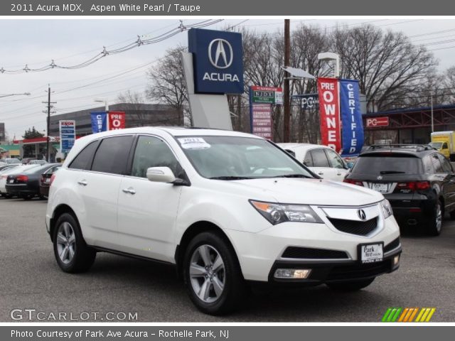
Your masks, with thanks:
<instances>
[{"instance_id":1,"label":"tall red PRE OWNED banner right of the big Acura sign","mask_svg":"<svg viewBox=\"0 0 455 341\"><path fill-rule=\"evenodd\" d=\"M318 78L321 143L335 151L341 150L341 123L338 80Z\"/></svg>"}]
</instances>

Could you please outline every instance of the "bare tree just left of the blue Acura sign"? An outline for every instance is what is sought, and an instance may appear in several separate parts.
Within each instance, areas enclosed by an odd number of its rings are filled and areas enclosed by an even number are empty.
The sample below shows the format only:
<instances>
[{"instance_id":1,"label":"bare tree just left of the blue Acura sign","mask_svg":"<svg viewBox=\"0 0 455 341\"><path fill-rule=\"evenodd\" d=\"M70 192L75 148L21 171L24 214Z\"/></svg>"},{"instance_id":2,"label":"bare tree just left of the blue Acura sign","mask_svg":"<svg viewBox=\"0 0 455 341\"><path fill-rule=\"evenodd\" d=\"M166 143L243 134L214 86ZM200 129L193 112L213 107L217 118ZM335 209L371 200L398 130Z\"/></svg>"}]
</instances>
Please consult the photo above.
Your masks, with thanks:
<instances>
[{"instance_id":1,"label":"bare tree just left of the blue Acura sign","mask_svg":"<svg viewBox=\"0 0 455 341\"><path fill-rule=\"evenodd\" d=\"M178 46L167 50L164 58L149 69L147 77L150 83L147 85L146 95L149 99L178 110L179 115L183 114L187 120L191 121L181 63L181 52L185 49ZM178 119L181 120L182 117L179 116Z\"/></svg>"}]
</instances>

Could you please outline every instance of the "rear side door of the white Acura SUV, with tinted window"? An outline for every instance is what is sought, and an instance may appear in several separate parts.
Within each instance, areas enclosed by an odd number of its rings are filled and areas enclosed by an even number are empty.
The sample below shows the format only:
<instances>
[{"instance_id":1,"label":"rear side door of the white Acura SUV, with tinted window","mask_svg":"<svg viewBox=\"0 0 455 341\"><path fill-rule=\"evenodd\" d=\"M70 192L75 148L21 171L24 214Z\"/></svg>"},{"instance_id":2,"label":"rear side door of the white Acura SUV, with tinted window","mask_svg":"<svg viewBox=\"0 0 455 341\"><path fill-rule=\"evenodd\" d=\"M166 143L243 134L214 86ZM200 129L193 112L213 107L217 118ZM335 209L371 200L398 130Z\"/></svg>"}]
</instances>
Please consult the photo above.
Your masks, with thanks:
<instances>
[{"instance_id":1,"label":"rear side door of the white Acura SUV, with tinted window","mask_svg":"<svg viewBox=\"0 0 455 341\"><path fill-rule=\"evenodd\" d=\"M133 139L133 135L102 139L87 171L72 177L84 205L75 208L82 210L82 230L87 231L84 237L92 245L117 248L117 199Z\"/></svg>"}]
</instances>

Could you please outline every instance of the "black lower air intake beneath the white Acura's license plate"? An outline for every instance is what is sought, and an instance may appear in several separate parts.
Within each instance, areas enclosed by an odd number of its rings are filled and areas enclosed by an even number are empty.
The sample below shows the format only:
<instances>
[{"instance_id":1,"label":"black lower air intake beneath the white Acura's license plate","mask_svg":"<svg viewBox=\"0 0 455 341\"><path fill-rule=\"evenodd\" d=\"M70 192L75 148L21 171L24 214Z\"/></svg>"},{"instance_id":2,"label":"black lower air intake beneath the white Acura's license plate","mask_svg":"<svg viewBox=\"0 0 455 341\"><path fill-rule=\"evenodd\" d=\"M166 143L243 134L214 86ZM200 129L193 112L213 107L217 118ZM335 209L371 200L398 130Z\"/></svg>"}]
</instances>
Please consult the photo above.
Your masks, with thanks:
<instances>
[{"instance_id":1,"label":"black lower air intake beneath the white Acura's license plate","mask_svg":"<svg viewBox=\"0 0 455 341\"><path fill-rule=\"evenodd\" d=\"M349 266L333 266L328 273L327 281L343 279L369 278L390 272L392 264L389 261L380 261L373 264L360 264Z\"/></svg>"}]
</instances>

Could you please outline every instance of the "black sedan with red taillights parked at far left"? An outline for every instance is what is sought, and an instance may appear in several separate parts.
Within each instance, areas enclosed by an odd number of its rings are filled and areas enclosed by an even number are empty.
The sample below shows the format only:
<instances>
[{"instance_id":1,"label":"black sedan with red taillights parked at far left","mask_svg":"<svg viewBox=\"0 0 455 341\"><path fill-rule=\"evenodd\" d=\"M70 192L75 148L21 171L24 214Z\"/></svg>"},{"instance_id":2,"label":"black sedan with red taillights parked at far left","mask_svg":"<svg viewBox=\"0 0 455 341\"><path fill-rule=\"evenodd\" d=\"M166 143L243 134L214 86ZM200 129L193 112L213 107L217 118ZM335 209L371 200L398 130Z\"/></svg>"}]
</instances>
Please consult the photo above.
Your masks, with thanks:
<instances>
[{"instance_id":1,"label":"black sedan with red taillights parked at far left","mask_svg":"<svg viewBox=\"0 0 455 341\"><path fill-rule=\"evenodd\" d=\"M60 163L46 163L44 166L29 168L21 173L8 175L6 178L6 193L22 197L24 200L31 200L35 195L40 194L39 183L41 174Z\"/></svg>"}]
</instances>

